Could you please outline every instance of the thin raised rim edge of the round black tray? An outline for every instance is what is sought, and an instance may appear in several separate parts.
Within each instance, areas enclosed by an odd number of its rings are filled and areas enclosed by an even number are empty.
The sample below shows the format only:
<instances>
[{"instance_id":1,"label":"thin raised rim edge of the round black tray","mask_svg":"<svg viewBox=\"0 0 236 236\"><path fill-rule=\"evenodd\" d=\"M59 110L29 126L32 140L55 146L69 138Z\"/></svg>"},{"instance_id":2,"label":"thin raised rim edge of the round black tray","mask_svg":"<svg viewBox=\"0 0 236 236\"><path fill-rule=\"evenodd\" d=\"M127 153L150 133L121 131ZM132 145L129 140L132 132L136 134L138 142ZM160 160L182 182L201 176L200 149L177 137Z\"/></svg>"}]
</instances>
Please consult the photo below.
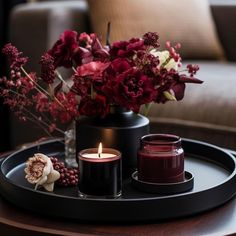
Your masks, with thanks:
<instances>
[{"instance_id":1,"label":"thin raised rim edge of the round black tray","mask_svg":"<svg viewBox=\"0 0 236 236\"><path fill-rule=\"evenodd\" d=\"M65 196L65 195L60 195L60 194L55 194L55 193L48 193L48 192L38 192L38 191L35 191L34 189L30 189L30 188L28 188L28 187L25 187L25 186L20 186L20 188L23 188L23 189L25 189L25 190L27 190L27 191L30 191L30 192L32 192L33 194L43 194L43 195L45 195L45 196L50 196L50 198L52 197L57 197L57 198L62 198L62 199L73 199L73 200L79 200L79 201L82 201L82 202L97 202L97 203L109 203L109 202L137 202L137 201L139 201L139 202L152 202L152 201L156 201L156 200L161 200L161 199L172 199L173 198L173 200L175 199L175 198L181 198L181 197L184 197L184 196L188 196L188 195L198 195L198 194L201 194L201 193L205 193L205 192L207 192L207 191L209 191L210 189L216 189L216 188L220 188L221 187L221 185L223 185L223 184L225 184L225 183L227 183L229 180L231 180L233 177L235 178L235 176L236 176L236 158L235 158L235 156L232 154L232 153L230 153L228 150L224 150L224 149L222 149L222 148L220 148L220 147L218 147L218 146L215 146L215 145L212 145L212 144L208 144L208 143L205 143L205 142L202 142L202 141L197 141L197 140L192 140L192 139L182 139L184 142L189 142L189 143L192 143L192 144L198 144L198 145L206 145L207 147L210 147L210 148L214 148L214 149L216 149L216 150L218 150L218 151L220 151L220 152L223 152L223 153L225 153L226 155L228 155L229 157L231 157L231 161L233 160L233 162L234 162L234 169L233 169L233 171L230 171L228 168L227 168L227 171L229 171L230 172L230 174L229 174L229 176L228 177L226 177L225 179L224 179L224 181L221 181L220 183L218 183L218 184L216 184L216 185L213 185L211 188L209 188L209 189L204 189L204 190L201 190L201 191L197 191L197 192L185 192L185 193L178 193L178 194L172 194L172 195L165 195L165 196L158 196L158 197L145 197L145 198L118 198L118 199L89 199L89 198L79 198L79 197L73 197L73 196ZM29 147L27 147L26 149L30 149L30 148L35 148L35 147L37 147L37 146L41 146L41 145L45 145L45 144L50 144L50 143L54 143L54 142L62 142L63 141L63 139L53 139L53 140L50 140L50 141L46 141L46 142L42 142L42 143L40 143L40 144L33 144L33 145L31 145L31 146L29 146ZM25 149L23 149L23 150L19 150L19 151L16 151L16 152L13 152L12 154L10 154L9 156L7 156L6 158L4 158L4 160L2 160L1 161L1 165L0 165L0 167L1 167L1 170L0 170L0 174L1 174L1 176L2 176L2 178L5 178L5 181L7 181L7 182L9 182L10 184L12 184L12 185L16 185L15 183L14 183L14 181L11 181L9 178L7 178L5 175L3 175L2 174L2 165L3 165L3 163L8 159L8 158L11 158L12 156L14 156L14 155L17 155L18 153L20 153L20 152L22 152L22 151L25 151ZM188 152L187 152L188 153ZM207 159L207 158L206 158ZM209 160L210 161L210 160ZM217 162L216 162L217 163ZM220 163L219 163L220 164ZM226 169L226 168L225 168ZM17 187L19 187L19 185L16 185ZM0 188L1 188L1 186L0 186ZM1 189L0 189L0 193L1 193ZM235 196L235 194L236 194L236 190L235 190L235 192L232 194L232 196L229 198L229 199L231 199L233 196ZM2 195L5 195L5 193L4 194L2 194ZM229 199L227 199L226 201L228 201ZM225 202L226 202L225 201ZM223 202L224 203L224 202ZM221 203L221 204L219 204L219 205L222 205L223 203ZM81 203L82 204L82 203ZM218 206L218 205L216 205L216 206ZM215 207L215 206L214 206ZM210 208L209 208L210 209ZM66 217L66 218L68 218L68 217Z\"/></svg>"}]
</instances>

